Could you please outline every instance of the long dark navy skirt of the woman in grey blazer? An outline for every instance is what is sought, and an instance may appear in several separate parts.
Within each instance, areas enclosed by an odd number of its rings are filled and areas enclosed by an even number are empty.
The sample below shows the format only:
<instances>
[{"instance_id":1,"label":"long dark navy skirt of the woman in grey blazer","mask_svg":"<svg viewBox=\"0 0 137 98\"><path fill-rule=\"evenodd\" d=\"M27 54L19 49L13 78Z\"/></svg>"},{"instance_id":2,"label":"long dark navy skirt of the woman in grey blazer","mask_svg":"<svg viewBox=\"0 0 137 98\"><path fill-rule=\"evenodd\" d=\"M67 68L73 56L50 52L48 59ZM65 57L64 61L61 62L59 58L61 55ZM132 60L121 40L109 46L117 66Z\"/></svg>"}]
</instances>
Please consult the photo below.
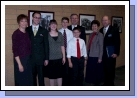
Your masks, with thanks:
<instances>
[{"instance_id":1,"label":"long dark navy skirt of the woman in grey blazer","mask_svg":"<svg viewBox=\"0 0 137 98\"><path fill-rule=\"evenodd\" d=\"M104 81L103 64L97 62L98 57L88 57L85 82L100 84Z\"/></svg>"}]
</instances>

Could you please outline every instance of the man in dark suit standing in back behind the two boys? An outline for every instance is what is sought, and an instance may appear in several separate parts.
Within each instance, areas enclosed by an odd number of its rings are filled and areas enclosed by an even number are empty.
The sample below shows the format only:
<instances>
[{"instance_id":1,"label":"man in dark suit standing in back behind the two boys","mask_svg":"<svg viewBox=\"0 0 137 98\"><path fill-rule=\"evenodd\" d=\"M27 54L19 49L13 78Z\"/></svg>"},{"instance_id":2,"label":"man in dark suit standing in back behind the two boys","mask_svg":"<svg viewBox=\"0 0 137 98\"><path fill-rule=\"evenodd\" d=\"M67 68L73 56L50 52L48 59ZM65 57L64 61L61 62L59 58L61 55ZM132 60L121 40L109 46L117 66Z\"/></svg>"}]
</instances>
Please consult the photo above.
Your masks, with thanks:
<instances>
[{"instance_id":1,"label":"man in dark suit standing in back behind the two boys","mask_svg":"<svg viewBox=\"0 0 137 98\"><path fill-rule=\"evenodd\" d=\"M78 23L79 23L78 15L77 14L71 14L70 19L71 19L71 25L68 26L68 29L72 31L74 29L74 27L79 27L81 30L80 38L83 39L86 43L85 28L78 25Z\"/></svg>"}]
</instances>

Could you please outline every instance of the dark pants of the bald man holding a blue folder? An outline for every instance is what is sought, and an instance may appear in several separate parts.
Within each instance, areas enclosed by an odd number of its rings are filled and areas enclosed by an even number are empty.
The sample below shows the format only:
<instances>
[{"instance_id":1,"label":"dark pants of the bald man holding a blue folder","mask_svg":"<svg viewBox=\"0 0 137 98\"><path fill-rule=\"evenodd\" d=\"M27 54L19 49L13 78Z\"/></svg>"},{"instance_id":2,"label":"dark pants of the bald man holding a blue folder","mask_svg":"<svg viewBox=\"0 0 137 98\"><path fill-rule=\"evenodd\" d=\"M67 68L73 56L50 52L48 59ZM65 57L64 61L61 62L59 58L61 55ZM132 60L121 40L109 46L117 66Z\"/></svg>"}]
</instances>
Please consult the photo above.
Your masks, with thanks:
<instances>
[{"instance_id":1,"label":"dark pants of the bald man holding a blue folder","mask_svg":"<svg viewBox=\"0 0 137 98\"><path fill-rule=\"evenodd\" d=\"M103 57L105 86L114 86L116 58Z\"/></svg>"}]
</instances>

